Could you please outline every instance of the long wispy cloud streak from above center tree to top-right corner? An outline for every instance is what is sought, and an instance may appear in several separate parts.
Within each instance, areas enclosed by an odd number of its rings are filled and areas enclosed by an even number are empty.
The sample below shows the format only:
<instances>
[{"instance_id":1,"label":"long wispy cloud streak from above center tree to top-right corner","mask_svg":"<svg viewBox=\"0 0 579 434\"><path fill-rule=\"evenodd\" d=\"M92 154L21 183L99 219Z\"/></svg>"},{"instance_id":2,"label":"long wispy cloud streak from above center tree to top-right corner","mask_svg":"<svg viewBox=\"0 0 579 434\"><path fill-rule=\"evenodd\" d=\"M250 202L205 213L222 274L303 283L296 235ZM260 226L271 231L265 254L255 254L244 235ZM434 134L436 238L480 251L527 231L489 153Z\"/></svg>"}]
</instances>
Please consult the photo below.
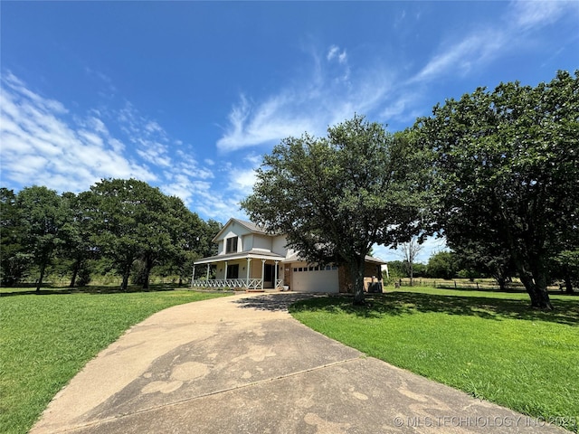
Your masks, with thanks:
<instances>
[{"instance_id":1,"label":"long wispy cloud streak from above center tree to top-right corner","mask_svg":"<svg viewBox=\"0 0 579 434\"><path fill-rule=\"evenodd\" d=\"M508 5L503 21L480 24L466 34L453 35L453 40L449 36L414 71L379 63L351 65L348 51L337 44L324 52L313 52L309 75L289 78L280 90L262 98L242 94L229 113L217 147L231 152L271 145L283 137L299 137L305 131L323 135L327 126L354 113L384 122L412 122L413 117L424 114L420 108L422 86L442 78L463 79L473 71L484 70L491 62L524 46L526 38L530 39L525 32L553 24L563 11L576 9L569 2L548 3Z\"/></svg>"}]
</instances>

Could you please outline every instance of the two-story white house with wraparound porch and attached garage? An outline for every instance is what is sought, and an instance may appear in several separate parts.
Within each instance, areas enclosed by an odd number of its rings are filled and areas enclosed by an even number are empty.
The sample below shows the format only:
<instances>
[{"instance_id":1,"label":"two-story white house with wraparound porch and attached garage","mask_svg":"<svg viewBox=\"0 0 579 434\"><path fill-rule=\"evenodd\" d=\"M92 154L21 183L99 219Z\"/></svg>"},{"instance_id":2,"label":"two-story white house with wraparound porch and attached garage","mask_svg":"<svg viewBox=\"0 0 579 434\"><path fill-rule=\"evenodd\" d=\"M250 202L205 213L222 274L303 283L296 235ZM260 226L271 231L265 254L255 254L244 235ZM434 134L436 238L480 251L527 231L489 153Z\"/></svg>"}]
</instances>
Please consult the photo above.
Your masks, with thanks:
<instances>
[{"instance_id":1,"label":"two-story white house with wraparound porch and attached garage","mask_svg":"<svg viewBox=\"0 0 579 434\"><path fill-rule=\"evenodd\" d=\"M213 241L218 245L218 253L195 260L193 288L347 292L349 279L343 267L308 264L299 258L299 252L286 247L285 235L272 235L255 223L230 219ZM380 259L366 257L366 288L375 282L382 291L383 264ZM205 275L198 276L195 269L203 265L207 266ZM213 275L215 278L211 278Z\"/></svg>"}]
</instances>

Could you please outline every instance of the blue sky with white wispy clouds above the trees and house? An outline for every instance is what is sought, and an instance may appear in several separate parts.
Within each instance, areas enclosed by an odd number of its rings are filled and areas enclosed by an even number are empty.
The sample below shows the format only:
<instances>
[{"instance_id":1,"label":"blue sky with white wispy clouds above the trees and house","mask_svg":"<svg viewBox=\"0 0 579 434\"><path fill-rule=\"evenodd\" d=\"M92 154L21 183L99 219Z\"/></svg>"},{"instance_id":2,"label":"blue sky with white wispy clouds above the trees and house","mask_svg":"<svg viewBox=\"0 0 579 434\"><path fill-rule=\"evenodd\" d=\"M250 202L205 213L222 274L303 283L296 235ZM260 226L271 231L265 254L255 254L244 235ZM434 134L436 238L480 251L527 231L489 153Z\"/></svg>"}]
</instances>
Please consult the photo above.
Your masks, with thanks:
<instances>
[{"instance_id":1,"label":"blue sky with white wispy clouds above the trees and house","mask_svg":"<svg viewBox=\"0 0 579 434\"><path fill-rule=\"evenodd\" d=\"M284 137L394 132L445 99L579 69L579 1L0 2L0 186L137 178L246 219ZM417 261L444 249L430 239ZM384 260L402 259L375 246Z\"/></svg>"}]
</instances>

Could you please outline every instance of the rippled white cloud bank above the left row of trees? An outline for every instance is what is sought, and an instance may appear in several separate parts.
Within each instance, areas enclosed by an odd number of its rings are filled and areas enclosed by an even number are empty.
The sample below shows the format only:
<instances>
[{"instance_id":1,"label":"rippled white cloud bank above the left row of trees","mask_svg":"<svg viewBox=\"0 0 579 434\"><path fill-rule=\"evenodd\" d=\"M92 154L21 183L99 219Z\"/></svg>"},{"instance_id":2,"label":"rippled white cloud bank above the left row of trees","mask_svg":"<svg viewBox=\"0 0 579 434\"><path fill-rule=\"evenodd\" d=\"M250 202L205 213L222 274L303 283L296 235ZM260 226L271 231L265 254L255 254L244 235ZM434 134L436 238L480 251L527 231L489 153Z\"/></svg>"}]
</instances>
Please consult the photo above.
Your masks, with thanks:
<instances>
[{"instance_id":1,"label":"rippled white cloud bank above the left row of trees","mask_svg":"<svg viewBox=\"0 0 579 434\"><path fill-rule=\"evenodd\" d=\"M97 109L85 117L69 116L62 103L29 90L9 71L3 74L2 88L3 186L39 184L77 193L102 178L134 177L190 205L209 200L206 180L214 178L213 172L198 165L180 141L172 141L157 121L131 104L112 116ZM111 135L105 118L115 119L113 127L126 134L124 141Z\"/></svg>"}]
</instances>

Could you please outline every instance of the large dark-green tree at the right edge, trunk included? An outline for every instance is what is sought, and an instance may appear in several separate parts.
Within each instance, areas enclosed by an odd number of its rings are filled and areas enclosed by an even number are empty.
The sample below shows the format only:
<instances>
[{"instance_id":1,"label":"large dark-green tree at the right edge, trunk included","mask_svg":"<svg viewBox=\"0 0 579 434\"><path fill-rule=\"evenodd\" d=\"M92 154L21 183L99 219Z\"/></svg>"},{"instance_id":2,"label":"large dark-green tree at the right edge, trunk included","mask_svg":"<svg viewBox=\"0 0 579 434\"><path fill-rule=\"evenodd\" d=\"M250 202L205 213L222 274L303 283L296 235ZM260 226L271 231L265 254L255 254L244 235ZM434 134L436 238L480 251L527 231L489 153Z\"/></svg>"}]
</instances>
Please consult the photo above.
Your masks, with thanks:
<instances>
[{"instance_id":1,"label":"large dark-green tree at the right edge, trunk included","mask_svg":"<svg viewBox=\"0 0 579 434\"><path fill-rule=\"evenodd\" d=\"M504 250L533 307L551 308L548 261L577 250L579 74L450 99L414 130L435 153L435 219L451 248Z\"/></svg>"}]
</instances>

